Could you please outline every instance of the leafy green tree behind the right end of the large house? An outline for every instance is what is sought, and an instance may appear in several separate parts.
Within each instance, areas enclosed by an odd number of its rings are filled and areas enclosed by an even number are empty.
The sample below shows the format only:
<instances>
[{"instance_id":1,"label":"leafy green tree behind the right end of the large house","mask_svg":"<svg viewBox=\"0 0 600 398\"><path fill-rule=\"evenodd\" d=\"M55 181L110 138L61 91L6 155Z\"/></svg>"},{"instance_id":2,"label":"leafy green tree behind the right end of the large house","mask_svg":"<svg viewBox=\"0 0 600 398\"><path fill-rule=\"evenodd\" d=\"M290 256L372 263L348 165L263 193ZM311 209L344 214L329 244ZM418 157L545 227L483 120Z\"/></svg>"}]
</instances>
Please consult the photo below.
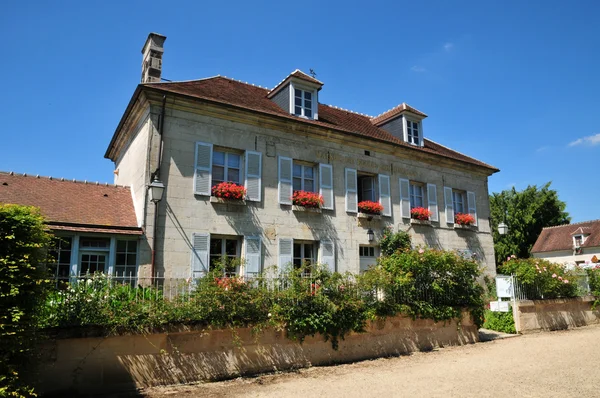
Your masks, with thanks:
<instances>
[{"instance_id":1,"label":"leafy green tree behind the right end of the large house","mask_svg":"<svg viewBox=\"0 0 600 398\"><path fill-rule=\"evenodd\" d=\"M542 228L571 221L565 211L566 203L558 199L558 192L550 189L550 184L541 188L530 185L523 191L513 187L490 196L490 222L498 266L513 254L528 258ZM496 228L501 222L508 225L506 235L500 235Z\"/></svg>"}]
</instances>

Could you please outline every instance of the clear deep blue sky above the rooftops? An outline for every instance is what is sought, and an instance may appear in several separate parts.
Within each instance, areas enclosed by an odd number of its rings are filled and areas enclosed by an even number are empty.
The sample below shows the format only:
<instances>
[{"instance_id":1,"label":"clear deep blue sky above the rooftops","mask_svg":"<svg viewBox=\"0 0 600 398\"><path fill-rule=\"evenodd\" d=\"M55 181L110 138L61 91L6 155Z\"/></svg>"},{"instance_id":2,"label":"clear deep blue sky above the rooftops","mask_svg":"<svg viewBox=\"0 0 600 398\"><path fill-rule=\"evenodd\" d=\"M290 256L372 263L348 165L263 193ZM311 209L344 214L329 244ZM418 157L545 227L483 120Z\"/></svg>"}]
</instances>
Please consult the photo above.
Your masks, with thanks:
<instances>
[{"instance_id":1,"label":"clear deep blue sky above the rooftops","mask_svg":"<svg viewBox=\"0 0 600 398\"><path fill-rule=\"evenodd\" d=\"M600 2L91 3L3 5L0 170L112 182L155 31L165 78L273 87L312 68L323 103L427 113L426 137L501 169L490 192L552 181L573 221L600 218Z\"/></svg>"}]
</instances>

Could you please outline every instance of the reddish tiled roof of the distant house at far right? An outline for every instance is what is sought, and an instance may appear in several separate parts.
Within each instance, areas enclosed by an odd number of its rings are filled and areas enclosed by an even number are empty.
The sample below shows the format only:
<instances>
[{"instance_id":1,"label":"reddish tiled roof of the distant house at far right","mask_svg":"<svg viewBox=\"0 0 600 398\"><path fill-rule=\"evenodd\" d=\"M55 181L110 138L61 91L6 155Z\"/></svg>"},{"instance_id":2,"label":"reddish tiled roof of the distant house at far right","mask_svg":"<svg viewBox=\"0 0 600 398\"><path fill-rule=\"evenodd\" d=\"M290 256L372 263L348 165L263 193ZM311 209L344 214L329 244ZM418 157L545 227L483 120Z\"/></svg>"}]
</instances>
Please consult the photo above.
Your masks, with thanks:
<instances>
[{"instance_id":1,"label":"reddish tiled roof of the distant house at far right","mask_svg":"<svg viewBox=\"0 0 600 398\"><path fill-rule=\"evenodd\" d=\"M600 246L600 220L594 220L544 228L535 241L531 252L571 250L573 248L573 235L578 233L589 234L581 247Z\"/></svg>"}]
</instances>

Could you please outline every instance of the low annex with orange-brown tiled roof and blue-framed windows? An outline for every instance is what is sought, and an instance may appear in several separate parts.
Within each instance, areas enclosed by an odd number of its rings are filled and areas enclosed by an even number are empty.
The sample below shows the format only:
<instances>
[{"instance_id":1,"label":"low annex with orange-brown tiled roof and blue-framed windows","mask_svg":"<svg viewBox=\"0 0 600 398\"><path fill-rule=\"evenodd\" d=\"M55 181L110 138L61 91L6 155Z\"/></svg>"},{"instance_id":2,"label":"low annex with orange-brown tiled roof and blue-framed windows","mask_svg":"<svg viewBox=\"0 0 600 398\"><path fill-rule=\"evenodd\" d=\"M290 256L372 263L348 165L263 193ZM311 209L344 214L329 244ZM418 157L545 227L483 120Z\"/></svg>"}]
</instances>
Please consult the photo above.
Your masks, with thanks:
<instances>
[{"instance_id":1,"label":"low annex with orange-brown tiled roof and blue-framed windows","mask_svg":"<svg viewBox=\"0 0 600 398\"><path fill-rule=\"evenodd\" d=\"M0 172L0 203L40 208L60 237L51 250L57 278L136 275L145 240L129 187Z\"/></svg>"}]
</instances>

